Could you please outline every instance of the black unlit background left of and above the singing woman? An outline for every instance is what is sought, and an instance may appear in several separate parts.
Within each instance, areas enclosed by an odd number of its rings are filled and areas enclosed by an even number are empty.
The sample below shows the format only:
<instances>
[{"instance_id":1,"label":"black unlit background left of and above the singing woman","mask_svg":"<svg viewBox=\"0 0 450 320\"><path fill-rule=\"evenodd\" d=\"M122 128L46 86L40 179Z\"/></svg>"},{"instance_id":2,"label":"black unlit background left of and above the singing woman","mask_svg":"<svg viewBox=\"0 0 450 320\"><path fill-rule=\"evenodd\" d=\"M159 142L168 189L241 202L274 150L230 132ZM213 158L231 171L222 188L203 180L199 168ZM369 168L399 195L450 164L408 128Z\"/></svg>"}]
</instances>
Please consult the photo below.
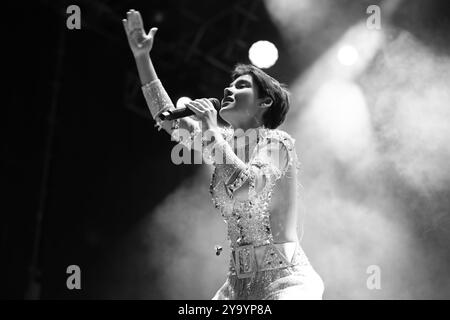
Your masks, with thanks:
<instances>
[{"instance_id":1,"label":"black unlit background left of and above the singing woman","mask_svg":"<svg viewBox=\"0 0 450 320\"><path fill-rule=\"evenodd\" d=\"M446 52L448 5L424 2L408 1L394 22ZM66 28L71 4L81 8L81 30ZM173 142L153 128L122 29L130 8L141 11L147 30L159 28L152 57L173 98L220 98L229 70L248 62L248 46L261 38L277 42L280 59L270 74L288 84L318 50L305 45L293 63L261 1L3 4L2 298L27 296L38 212L42 236L31 274L41 298L141 297L132 288L118 292L138 277L122 272L120 241L198 170L173 165ZM87 270L79 292L65 286L71 264ZM152 270L143 272L151 281ZM150 297L164 298L163 290Z\"/></svg>"}]
</instances>

